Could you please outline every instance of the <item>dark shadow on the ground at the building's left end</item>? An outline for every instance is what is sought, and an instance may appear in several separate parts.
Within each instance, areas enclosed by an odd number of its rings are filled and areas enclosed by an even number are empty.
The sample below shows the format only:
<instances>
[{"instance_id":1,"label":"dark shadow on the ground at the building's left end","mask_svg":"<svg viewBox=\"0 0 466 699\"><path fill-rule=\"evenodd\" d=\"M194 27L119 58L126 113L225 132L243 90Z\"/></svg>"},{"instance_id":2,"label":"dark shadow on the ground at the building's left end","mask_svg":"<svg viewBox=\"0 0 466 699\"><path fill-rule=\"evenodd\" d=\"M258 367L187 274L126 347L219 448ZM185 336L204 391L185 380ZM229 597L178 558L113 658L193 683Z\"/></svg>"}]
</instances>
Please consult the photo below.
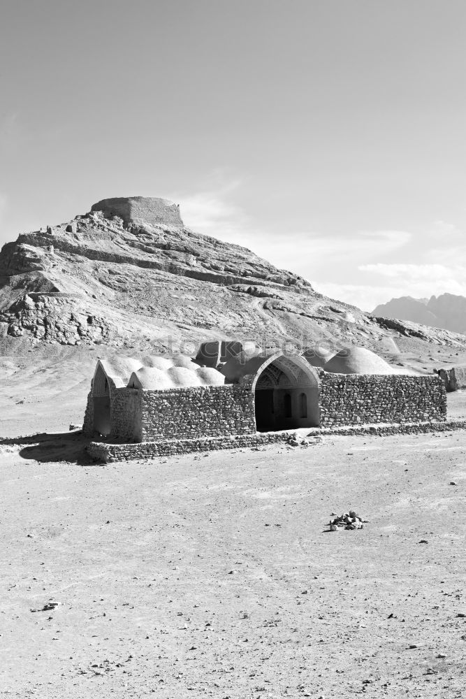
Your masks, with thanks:
<instances>
[{"instance_id":1,"label":"dark shadow on the ground at the building's left end","mask_svg":"<svg viewBox=\"0 0 466 699\"><path fill-rule=\"evenodd\" d=\"M78 466L94 466L95 461L87 454L86 447L91 440L82 432L46 432L0 439L0 446L17 446L22 459L49 463L75 463Z\"/></svg>"}]
</instances>

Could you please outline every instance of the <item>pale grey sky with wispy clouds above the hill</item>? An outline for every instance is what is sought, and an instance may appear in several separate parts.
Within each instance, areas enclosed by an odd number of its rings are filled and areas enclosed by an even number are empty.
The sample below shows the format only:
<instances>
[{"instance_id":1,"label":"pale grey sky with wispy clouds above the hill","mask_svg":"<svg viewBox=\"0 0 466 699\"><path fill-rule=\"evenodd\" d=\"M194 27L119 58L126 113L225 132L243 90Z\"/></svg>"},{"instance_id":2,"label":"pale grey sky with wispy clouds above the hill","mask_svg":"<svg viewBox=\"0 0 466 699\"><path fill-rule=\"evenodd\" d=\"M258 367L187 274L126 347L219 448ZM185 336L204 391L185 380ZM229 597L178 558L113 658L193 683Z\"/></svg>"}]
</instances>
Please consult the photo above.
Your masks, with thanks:
<instances>
[{"instance_id":1,"label":"pale grey sky with wispy clouds above the hill","mask_svg":"<svg viewBox=\"0 0 466 699\"><path fill-rule=\"evenodd\" d=\"M464 0L2 0L0 244L163 196L363 310L466 296Z\"/></svg>"}]
</instances>

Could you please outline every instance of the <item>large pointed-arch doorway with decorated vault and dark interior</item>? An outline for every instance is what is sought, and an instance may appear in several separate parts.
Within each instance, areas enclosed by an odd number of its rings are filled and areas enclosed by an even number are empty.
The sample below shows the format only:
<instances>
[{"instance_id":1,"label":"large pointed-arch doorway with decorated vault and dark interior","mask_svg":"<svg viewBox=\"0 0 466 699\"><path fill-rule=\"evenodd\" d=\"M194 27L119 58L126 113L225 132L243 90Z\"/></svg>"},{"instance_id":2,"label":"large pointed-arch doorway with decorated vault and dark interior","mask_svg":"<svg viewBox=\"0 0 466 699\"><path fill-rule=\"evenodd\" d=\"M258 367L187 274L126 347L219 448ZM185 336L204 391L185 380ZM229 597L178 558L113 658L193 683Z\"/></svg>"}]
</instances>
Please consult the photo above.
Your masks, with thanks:
<instances>
[{"instance_id":1,"label":"large pointed-arch doorway with decorated vault and dark interior","mask_svg":"<svg viewBox=\"0 0 466 699\"><path fill-rule=\"evenodd\" d=\"M299 355L265 359L252 383L258 432L318 427L319 376Z\"/></svg>"}]
</instances>

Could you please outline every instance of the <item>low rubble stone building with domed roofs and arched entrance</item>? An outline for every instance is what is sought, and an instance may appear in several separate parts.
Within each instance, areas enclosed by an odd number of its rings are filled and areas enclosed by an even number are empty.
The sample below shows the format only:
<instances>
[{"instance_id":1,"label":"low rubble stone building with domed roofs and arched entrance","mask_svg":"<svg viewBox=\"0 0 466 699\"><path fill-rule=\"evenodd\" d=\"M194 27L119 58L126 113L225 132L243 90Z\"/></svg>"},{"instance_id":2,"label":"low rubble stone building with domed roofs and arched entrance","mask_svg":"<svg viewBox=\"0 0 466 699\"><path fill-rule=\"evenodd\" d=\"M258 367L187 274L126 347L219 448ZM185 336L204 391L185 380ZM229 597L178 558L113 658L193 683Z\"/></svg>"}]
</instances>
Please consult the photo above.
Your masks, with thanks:
<instances>
[{"instance_id":1,"label":"low rubble stone building with domed roofs and arched entrance","mask_svg":"<svg viewBox=\"0 0 466 699\"><path fill-rule=\"evenodd\" d=\"M99 360L84 433L120 443L183 440L190 451L189 444L196 440L228 442L241 435L302 427L446 419L445 386L437 375L395 374L368 350L348 352L346 365L340 353L334 361L340 372L331 373L312 366L309 351L251 356L239 344L236 354L229 349L228 358L224 353L227 361L217 368L186 356ZM350 371L368 360L379 373Z\"/></svg>"}]
</instances>

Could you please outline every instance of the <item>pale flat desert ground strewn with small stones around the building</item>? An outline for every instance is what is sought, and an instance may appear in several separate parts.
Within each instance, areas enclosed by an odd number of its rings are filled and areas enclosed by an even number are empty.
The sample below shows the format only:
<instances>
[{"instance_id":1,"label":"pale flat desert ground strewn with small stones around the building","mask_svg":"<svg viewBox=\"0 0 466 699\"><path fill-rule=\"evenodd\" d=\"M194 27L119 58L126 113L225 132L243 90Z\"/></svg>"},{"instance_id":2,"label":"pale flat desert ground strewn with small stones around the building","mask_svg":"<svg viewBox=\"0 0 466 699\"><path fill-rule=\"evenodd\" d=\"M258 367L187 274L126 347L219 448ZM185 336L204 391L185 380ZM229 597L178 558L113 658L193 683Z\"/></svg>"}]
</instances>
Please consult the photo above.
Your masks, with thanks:
<instances>
[{"instance_id":1,"label":"pale flat desert ground strewn with small stones around the building","mask_svg":"<svg viewBox=\"0 0 466 699\"><path fill-rule=\"evenodd\" d=\"M8 361L1 696L466 696L465 431L102 465Z\"/></svg>"}]
</instances>

